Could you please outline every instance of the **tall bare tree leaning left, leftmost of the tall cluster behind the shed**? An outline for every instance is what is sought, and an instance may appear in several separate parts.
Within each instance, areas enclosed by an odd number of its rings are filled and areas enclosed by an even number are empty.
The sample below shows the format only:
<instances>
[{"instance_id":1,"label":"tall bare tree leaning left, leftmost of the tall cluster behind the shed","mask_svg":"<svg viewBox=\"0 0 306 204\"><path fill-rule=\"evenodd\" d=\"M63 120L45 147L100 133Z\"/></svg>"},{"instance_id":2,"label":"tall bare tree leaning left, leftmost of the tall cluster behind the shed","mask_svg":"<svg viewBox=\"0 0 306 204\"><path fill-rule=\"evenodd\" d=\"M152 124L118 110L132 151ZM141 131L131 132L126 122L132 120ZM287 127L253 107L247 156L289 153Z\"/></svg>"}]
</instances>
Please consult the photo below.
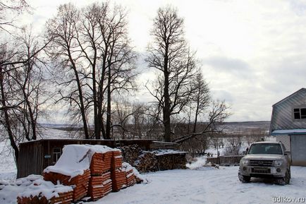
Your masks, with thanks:
<instances>
[{"instance_id":1,"label":"tall bare tree leaning left, leftmost of the tall cluster behind the shed","mask_svg":"<svg viewBox=\"0 0 306 204\"><path fill-rule=\"evenodd\" d=\"M84 67L80 61L80 53L78 51L78 42L76 37L76 23L80 18L80 13L72 4L64 4L59 6L56 17L47 22L47 39L51 40L51 49L49 54L52 61L56 61L59 69L66 70L71 76L66 78L60 84L69 86L71 90L61 95L60 100L66 100L70 104L75 104L80 112L81 121L85 138L90 138L87 122L87 106L84 99L84 86L82 78L84 78ZM76 88L75 88L76 87Z\"/></svg>"}]
</instances>

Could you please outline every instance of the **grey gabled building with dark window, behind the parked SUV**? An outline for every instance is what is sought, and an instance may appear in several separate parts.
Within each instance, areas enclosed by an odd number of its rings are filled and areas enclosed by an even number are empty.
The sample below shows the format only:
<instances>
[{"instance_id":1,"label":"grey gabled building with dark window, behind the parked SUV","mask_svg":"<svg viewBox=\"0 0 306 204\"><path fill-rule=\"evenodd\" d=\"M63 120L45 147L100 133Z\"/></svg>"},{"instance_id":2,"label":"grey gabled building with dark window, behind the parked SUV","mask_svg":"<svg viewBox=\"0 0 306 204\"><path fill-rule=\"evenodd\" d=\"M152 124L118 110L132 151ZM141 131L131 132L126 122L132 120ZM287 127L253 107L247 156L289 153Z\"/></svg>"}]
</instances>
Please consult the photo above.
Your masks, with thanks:
<instances>
[{"instance_id":1,"label":"grey gabled building with dark window, behind the parked SUV","mask_svg":"<svg viewBox=\"0 0 306 204\"><path fill-rule=\"evenodd\" d=\"M273 105L270 134L290 150L293 165L306 166L305 88Z\"/></svg>"}]
</instances>

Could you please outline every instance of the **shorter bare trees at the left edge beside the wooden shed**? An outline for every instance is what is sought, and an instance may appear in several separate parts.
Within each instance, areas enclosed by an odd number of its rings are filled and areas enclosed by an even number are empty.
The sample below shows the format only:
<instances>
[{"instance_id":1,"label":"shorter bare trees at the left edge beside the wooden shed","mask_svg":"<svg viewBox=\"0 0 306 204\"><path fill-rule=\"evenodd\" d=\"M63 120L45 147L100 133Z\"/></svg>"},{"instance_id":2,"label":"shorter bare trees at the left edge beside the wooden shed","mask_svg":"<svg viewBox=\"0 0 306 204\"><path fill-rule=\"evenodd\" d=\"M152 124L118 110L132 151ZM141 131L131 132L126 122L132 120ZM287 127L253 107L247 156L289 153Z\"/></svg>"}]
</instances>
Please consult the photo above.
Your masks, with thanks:
<instances>
[{"instance_id":1,"label":"shorter bare trees at the left edge beside the wooden shed","mask_svg":"<svg viewBox=\"0 0 306 204\"><path fill-rule=\"evenodd\" d=\"M37 119L44 112L44 61L38 55L42 46L36 36L23 31L16 38L14 47L1 45L0 123L4 126L8 139L18 160L18 143L37 139Z\"/></svg>"}]
</instances>

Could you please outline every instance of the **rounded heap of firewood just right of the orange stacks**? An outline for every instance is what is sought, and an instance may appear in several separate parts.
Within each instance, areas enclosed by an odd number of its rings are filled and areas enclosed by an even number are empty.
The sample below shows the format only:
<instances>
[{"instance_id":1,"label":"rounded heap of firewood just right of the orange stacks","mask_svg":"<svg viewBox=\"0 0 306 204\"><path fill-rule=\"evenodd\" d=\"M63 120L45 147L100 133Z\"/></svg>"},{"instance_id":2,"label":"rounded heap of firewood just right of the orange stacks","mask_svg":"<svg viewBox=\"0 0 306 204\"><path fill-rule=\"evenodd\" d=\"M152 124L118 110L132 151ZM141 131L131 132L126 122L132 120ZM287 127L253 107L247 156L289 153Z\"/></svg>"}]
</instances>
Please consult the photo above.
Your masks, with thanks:
<instances>
[{"instance_id":1,"label":"rounded heap of firewood just right of the orange stacks","mask_svg":"<svg viewBox=\"0 0 306 204\"><path fill-rule=\"evenodd\" d=\"M133 166L139 172L156 172L158 170L157 157L152 152L144 152L137 158Z\"/></svg>"}]
</instances>

